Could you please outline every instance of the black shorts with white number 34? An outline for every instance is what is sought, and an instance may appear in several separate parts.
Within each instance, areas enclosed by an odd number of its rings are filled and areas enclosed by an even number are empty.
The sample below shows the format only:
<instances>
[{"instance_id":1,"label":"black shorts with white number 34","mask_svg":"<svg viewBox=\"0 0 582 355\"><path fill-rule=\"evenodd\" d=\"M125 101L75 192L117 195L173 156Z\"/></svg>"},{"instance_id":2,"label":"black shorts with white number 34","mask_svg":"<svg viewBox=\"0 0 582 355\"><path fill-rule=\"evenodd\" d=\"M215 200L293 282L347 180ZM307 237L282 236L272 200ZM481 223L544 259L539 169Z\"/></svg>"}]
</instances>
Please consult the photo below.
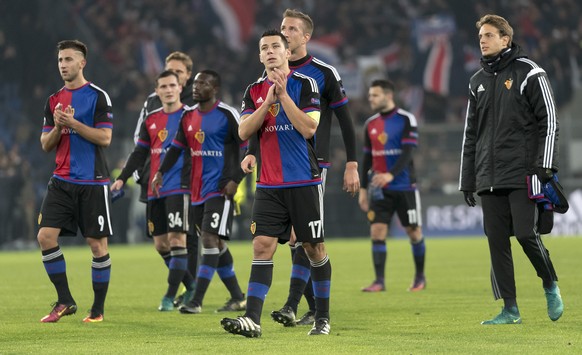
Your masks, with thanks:
<instances>
[{"instance_id":1,"label":"black shorts with white number 34","mask_svg":"<svg viewBox=\"0 0 582 355\"><path fill-rule=\"evenodd\" d=\"M168 232L187 233L190 228L189 208L190 195L187 194L149 200L146 212L149 237Z\"/></svg>"}]
</instances>

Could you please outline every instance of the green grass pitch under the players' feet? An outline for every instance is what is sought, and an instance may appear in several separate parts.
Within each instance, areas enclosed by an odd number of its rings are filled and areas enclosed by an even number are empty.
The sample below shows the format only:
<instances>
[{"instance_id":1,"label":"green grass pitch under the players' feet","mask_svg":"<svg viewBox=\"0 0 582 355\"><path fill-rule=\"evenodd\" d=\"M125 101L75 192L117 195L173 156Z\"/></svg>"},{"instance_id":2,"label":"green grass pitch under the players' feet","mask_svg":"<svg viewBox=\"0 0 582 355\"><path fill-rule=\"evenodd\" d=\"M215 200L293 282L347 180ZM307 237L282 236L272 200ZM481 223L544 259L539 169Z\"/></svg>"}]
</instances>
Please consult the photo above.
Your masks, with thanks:
<instances>
[{"instance_id":1,"label":"green grass pitch under the players' feet","mask_svg":"<svg viewBox=\"0 0 582 355\"><path fill-rule=\"evenodd\" d=\"M283 328L269 313L287 295L289 248L275 255L273 284L263 309L263 336L226 333L220 319L237 313L214 310L228 298L215 275L199 315L161 313L167 269L153 245L114 245L105 321L84 324L90 308L91 255L88 247L63 247L69 284L79 311L56 324L41 324L56 293L40 251L0 253L0 354L423 354L582 353L582 238L544 238L560 277L565 312L557 322L546 314L541 280L512 240L518 304L523 324L482 326L496 315L489 285L485 237L427 238L428 287L406 291L413 276L410 245L388 241L387 291L360 291L373 279L367 239L328 238L333 267L330 336L308 337L309 327ZM246 292L252 259L250 241L232 242L235 269ZM305 311L304 301L299 313Z\"/></svg>"}]
</instances>

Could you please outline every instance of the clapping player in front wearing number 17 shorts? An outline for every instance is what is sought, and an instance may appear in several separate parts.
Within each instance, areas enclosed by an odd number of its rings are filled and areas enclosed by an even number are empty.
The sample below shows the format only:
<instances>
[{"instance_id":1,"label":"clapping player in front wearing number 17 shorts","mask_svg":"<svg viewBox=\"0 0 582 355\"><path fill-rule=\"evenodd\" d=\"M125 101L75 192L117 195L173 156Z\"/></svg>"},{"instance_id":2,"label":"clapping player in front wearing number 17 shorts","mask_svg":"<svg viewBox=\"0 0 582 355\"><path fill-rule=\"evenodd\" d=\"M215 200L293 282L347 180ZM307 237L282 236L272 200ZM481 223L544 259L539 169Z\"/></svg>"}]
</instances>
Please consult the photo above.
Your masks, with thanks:
<instances>
[{"instance_id":1,"label":"clapping player in front wearing number 17 shorts","mask_svg":"<svg viewBox=\"0 0 582 355\"><path fill-rule=\"evenodd\" d=\"M325 250L321 175L314 135L319 123L319 89L314 79L289 69L287 39L263 33L259 58L267 77L246 89L239 127L241 139L257 136L259 166L253 206L253 262L244 316L224 318L223 328L246 337L261 335L261 312L273 278L277 243L289 240L291 226L310 261L316 314L310 335L329 334L331 263Z\"/></svg>"}]
</instances>

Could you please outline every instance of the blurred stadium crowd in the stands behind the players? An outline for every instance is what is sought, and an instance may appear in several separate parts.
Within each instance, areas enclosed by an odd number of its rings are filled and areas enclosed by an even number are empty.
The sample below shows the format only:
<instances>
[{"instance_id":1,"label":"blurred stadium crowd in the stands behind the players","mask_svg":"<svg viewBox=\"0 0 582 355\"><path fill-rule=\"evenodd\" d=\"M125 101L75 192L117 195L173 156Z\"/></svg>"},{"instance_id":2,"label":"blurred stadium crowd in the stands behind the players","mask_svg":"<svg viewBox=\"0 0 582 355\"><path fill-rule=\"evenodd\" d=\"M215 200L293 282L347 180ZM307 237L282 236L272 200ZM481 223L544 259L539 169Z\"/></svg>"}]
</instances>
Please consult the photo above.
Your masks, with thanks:
<instances>
[{"instance_id":1,"label":"blurred stadium crowd in the stands behind the players","mask_svg":"<svg viewBox=\"0 0 582 355\"><path fill-rule=\"evenodd\" d=\"M5 193L0 199L0 245L34 244L36 213L53 164L40 154L42 110L45 98L62 85L54 70L55 45L71 34L89 44L87 77L98 81L113 101L110 166L129 153L138 112L167 54L184 51L195 70L220 73L223 101L237 106L246 84L262 72L258 36L266 28L278 28L281 13L289 7L312 15L316 27L313 47L310 43L308 48L340 70L358 132L370 115L367 85L379 77L396 81L399 104L419 118L421 131L423 125L461 125L469 76L479 66L475 21L485 13L498 13L516 24L515 42L548 72L558 106L568 103L579 86L582 5L576 0L249 0L245 5L253 21L232 32L211 0L1 2L0 181ZM248 35L233 38L242 32ZM427 69L427 43L436 37L449 45L443 48L451 65L443 72ZM444 84L427 81L427 76L445 72L449 79ZM457 178L454 163L436 170L428 164L442 160L439 143L447 139L421 142L420 180L429 170L435 184ZM341 163L345 155L338 152L334 160ZM458 154L445 161L454 159ZM330 172L332 178L341 175L339 170ZM340 185L330 181L330 186ZM424 186L432 189L431 184Z\"/></svg>"}]
</instances>

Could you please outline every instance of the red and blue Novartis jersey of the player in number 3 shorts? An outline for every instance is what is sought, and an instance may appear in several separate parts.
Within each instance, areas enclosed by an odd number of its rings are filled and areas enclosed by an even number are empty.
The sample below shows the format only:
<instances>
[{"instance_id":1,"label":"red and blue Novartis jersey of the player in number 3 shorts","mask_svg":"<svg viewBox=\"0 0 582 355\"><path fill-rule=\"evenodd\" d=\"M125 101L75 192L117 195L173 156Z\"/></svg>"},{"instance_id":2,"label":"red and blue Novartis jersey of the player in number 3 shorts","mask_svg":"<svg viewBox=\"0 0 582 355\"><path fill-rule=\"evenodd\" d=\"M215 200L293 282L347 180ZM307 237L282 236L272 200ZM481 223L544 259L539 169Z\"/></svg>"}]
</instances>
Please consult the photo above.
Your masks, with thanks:
<instances>
[{"instance_id":1,"label":"red and blue Novartis jersey of the player in number 3 shorts","mask_svg":"<svg viewBox=\"0 0 582 355\"><path fill-rule=\"evenodd\" d=\"M184 111L172 145L189 150L192 205L222 195L228 181L239 183L243 178L239 120L236 109L220 101L209 111L201 111L199 105Z\"/></svg>"}]
</instances>

